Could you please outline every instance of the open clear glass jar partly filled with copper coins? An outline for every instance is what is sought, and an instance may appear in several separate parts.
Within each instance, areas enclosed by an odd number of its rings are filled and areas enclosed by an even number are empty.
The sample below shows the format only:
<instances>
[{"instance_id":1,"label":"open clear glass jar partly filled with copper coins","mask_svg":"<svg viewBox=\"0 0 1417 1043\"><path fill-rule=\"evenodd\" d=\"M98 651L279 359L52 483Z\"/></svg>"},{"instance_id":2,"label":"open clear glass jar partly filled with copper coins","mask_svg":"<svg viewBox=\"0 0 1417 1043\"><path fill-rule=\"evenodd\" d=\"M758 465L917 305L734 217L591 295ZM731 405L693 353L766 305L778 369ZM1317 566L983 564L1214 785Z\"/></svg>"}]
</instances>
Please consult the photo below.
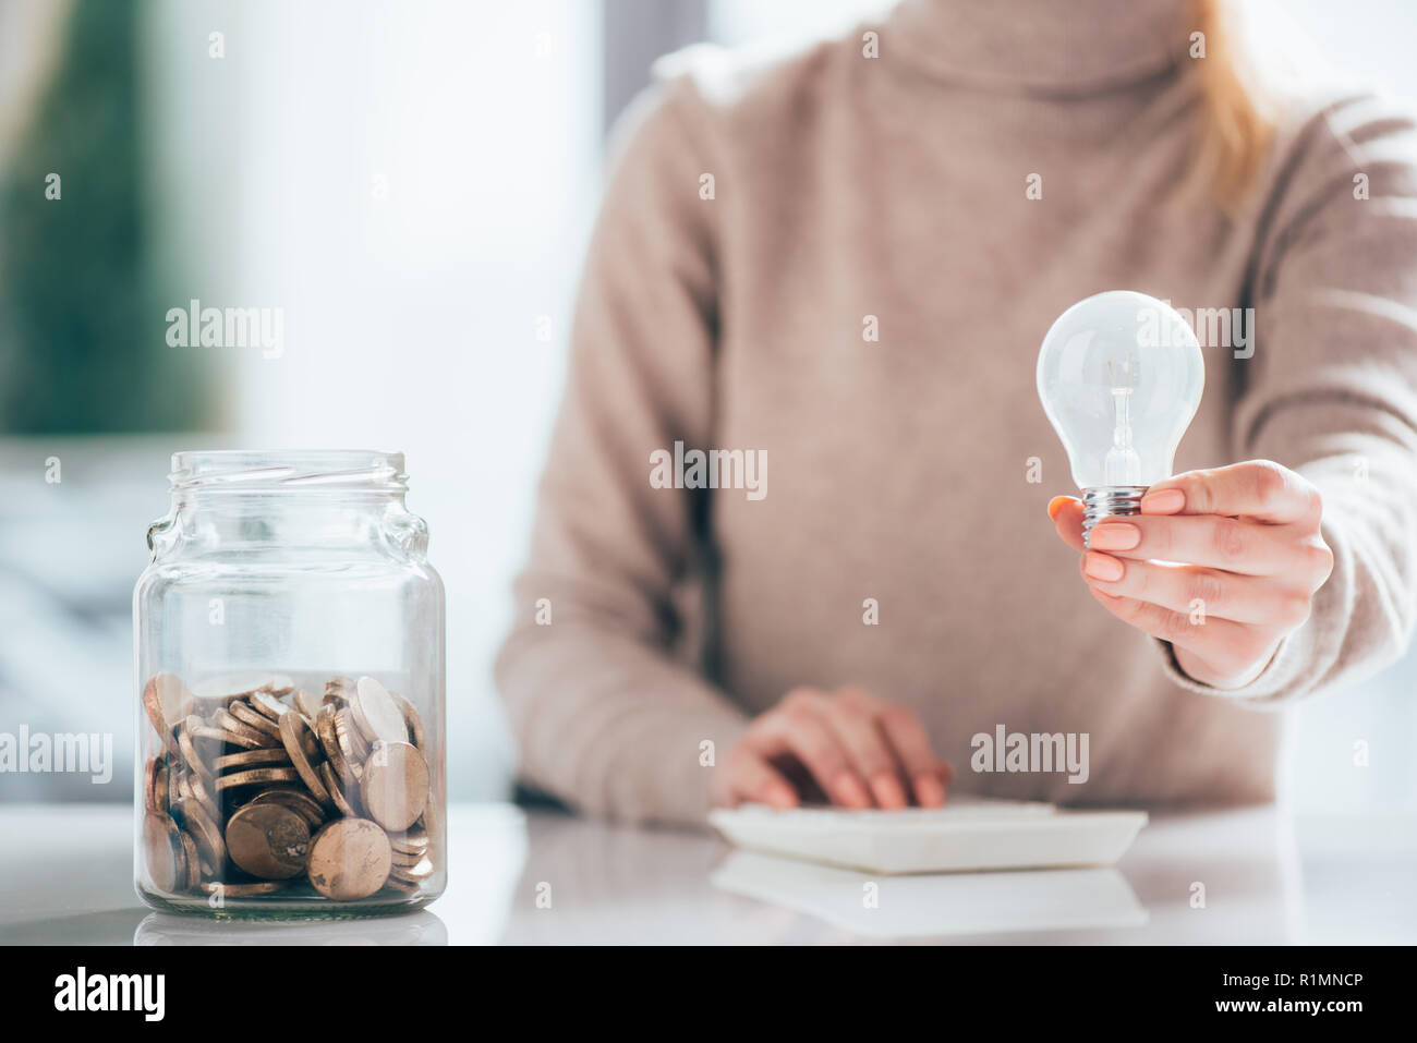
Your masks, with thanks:
<instances>
[{"instance_id":1,"label":"open clear glass jar partly filled with copper coins","mask_svg":"<svg viewBox=\"0 0 1417 1043\"><path fill-rule=\"evenodd\" d=\"M179 452L133 591L135 883L217 917L446 883L444 588L401 453Z\"/></svg>"}]
</instances>

